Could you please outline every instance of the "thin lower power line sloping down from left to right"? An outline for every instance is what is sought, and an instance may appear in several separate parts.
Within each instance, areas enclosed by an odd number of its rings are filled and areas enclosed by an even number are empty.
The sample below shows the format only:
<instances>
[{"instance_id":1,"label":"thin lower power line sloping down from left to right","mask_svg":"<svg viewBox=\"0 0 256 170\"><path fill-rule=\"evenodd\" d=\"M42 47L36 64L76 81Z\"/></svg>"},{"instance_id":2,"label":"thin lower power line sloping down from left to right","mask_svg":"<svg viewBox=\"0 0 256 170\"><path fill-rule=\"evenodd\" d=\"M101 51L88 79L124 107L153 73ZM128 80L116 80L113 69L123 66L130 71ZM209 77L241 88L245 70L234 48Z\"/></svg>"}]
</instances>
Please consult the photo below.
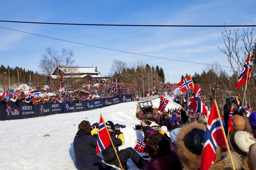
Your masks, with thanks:
<instances>
[{"instance_id":1,"label":"thin lower power line sloping down from left to right","mask_svg":"<svg viewBox=\"0 0 256 170\"><path fill-rule=\"evenodd\" d=\"M184 63L192 63L192 64L200 64L200 65L207 65L207 66L214 66L214 67L218 66L218 67L231 68L230 66L220 66L220 65L213 65L213 64L206 64L206 63L198 63L198 62L192 62L192 61L184 61L184 60L177 60L177 59L171 59L171 58L165 58L165 57L157 57L157 56L153 56L153 55L140 54L140 53L136 53L136 52L115 50L115 49L110 49L110 48L105 48L105 47L99 47L99 46L94 46L94 45L79 43L79 42L75 42L75 41L69 41L69 40L54 38L54 37L45 36L45 35L40 35L40 34L29 33L29 32L20 31L20 30L15 30L15 29L7 28L7 27L1 27L1 26L0 26L0 28L12 30L12 31L17 31L17 32L20 32L20 33L25 33L25 34L37 35L37 36L41 36L41 37L45 37L45 38L51 38L51 39L55 39L55 40L59 40L59 41L64 41L64 42L69 42L69 43L84 45L84 46L88 46L88 47L95 47L95 48L104 49L104 50L118 51L118 52L124 52L124 53L128 53L128 54L135 54L135 55L140 55L140 56L145 56L145 57L159 58L159 59L172 60L172 61L178 61L178 62L184 62Z\"/></svg>"}]
</instances>

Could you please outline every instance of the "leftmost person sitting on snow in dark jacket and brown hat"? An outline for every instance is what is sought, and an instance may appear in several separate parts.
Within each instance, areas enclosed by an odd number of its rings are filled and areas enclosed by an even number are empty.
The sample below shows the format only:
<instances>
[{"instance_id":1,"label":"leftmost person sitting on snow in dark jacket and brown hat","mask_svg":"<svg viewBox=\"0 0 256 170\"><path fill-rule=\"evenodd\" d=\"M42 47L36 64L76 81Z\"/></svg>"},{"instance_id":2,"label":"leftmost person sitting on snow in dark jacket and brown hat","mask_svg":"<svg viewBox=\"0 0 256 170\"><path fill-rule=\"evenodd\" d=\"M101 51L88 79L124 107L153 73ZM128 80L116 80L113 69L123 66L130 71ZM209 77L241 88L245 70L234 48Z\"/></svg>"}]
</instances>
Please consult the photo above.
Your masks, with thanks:
<instances>
[{"instance_id":1,"label":"leftmost person sitting on snow in dark jacket and brown hat","mask_svg":"<svg viewBox=\"0 0 256 170\"><path fill-rule=\"evenodd\" d=\"M96 155L97 135L94 134L98 129L92 130L87 120L81 121L78 129L73 143L77 168L79 170L115 170L103 163Z\"/></svg>"}]
</instances>

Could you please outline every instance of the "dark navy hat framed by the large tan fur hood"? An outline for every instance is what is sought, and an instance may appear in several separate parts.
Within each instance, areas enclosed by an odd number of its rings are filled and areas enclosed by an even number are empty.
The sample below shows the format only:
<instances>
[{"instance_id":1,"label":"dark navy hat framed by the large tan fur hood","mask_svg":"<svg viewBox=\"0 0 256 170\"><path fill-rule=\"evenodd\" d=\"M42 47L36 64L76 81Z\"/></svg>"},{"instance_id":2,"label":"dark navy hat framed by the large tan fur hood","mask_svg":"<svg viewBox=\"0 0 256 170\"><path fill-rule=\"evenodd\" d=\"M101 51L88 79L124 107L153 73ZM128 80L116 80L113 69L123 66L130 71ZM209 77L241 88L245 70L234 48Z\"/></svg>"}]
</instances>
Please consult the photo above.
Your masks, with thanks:
<instances>
[{"instance_id":1,"label":"dark navy hat framed by the large tan fur hood","mask_svg":"<svg viewBox=\"0 0 256 170\"><path fill-rule=\"evenodd\" d=\"M204 137L204 130L194 128L184 136L184 145L190 152L196 155L201 155L203 151Z\"/></svg>"}]
</instances>

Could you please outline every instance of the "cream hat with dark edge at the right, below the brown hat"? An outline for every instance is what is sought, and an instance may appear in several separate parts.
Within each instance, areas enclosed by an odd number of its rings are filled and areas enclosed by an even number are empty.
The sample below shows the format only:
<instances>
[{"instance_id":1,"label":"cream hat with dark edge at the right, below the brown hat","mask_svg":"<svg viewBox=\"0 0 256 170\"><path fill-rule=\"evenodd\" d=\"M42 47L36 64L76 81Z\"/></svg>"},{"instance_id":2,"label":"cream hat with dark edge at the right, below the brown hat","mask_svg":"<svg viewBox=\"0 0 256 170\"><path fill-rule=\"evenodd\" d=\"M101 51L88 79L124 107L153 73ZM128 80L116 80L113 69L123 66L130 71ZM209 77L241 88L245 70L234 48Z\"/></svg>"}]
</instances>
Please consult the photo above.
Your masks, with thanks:
<instances>
[{"instance_id":1,"label":"cream hat with dark edge at the right, below the brown hat","mask_svg":"<svg viewBox=\"0 0 256 170\"><path fill-rule=\"evenodd\" d=\"M245 131L236 131L229 136L229 147L242 156L247 156L249 146L256 143L256 139Z\"/></svg>"}]
</instances>

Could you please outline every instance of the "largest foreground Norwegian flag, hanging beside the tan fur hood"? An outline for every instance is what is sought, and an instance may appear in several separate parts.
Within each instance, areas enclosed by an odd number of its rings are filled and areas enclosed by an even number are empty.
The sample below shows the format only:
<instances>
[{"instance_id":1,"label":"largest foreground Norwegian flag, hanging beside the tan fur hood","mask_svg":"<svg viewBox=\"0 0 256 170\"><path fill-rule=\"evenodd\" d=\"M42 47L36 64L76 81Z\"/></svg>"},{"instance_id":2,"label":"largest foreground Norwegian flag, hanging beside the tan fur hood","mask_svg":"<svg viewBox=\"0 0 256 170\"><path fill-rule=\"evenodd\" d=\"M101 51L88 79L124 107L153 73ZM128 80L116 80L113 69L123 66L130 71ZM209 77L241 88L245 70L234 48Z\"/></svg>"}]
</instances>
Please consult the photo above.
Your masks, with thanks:
<instances>
[{"instance_id":1,"label":"largest foreground Norwegian flag, hanging beside the tan fur hood","mask_svg":"<svg viewBox=\"0 0 256 170\"><path fill-rule=\"evenodd\" d=\"M207 123L200 170L209 170L216 161L216 149L218 146L225 145L224 137L226 136L222 133L217 106L214 103Z\"/></svg>"}]
</instances>

